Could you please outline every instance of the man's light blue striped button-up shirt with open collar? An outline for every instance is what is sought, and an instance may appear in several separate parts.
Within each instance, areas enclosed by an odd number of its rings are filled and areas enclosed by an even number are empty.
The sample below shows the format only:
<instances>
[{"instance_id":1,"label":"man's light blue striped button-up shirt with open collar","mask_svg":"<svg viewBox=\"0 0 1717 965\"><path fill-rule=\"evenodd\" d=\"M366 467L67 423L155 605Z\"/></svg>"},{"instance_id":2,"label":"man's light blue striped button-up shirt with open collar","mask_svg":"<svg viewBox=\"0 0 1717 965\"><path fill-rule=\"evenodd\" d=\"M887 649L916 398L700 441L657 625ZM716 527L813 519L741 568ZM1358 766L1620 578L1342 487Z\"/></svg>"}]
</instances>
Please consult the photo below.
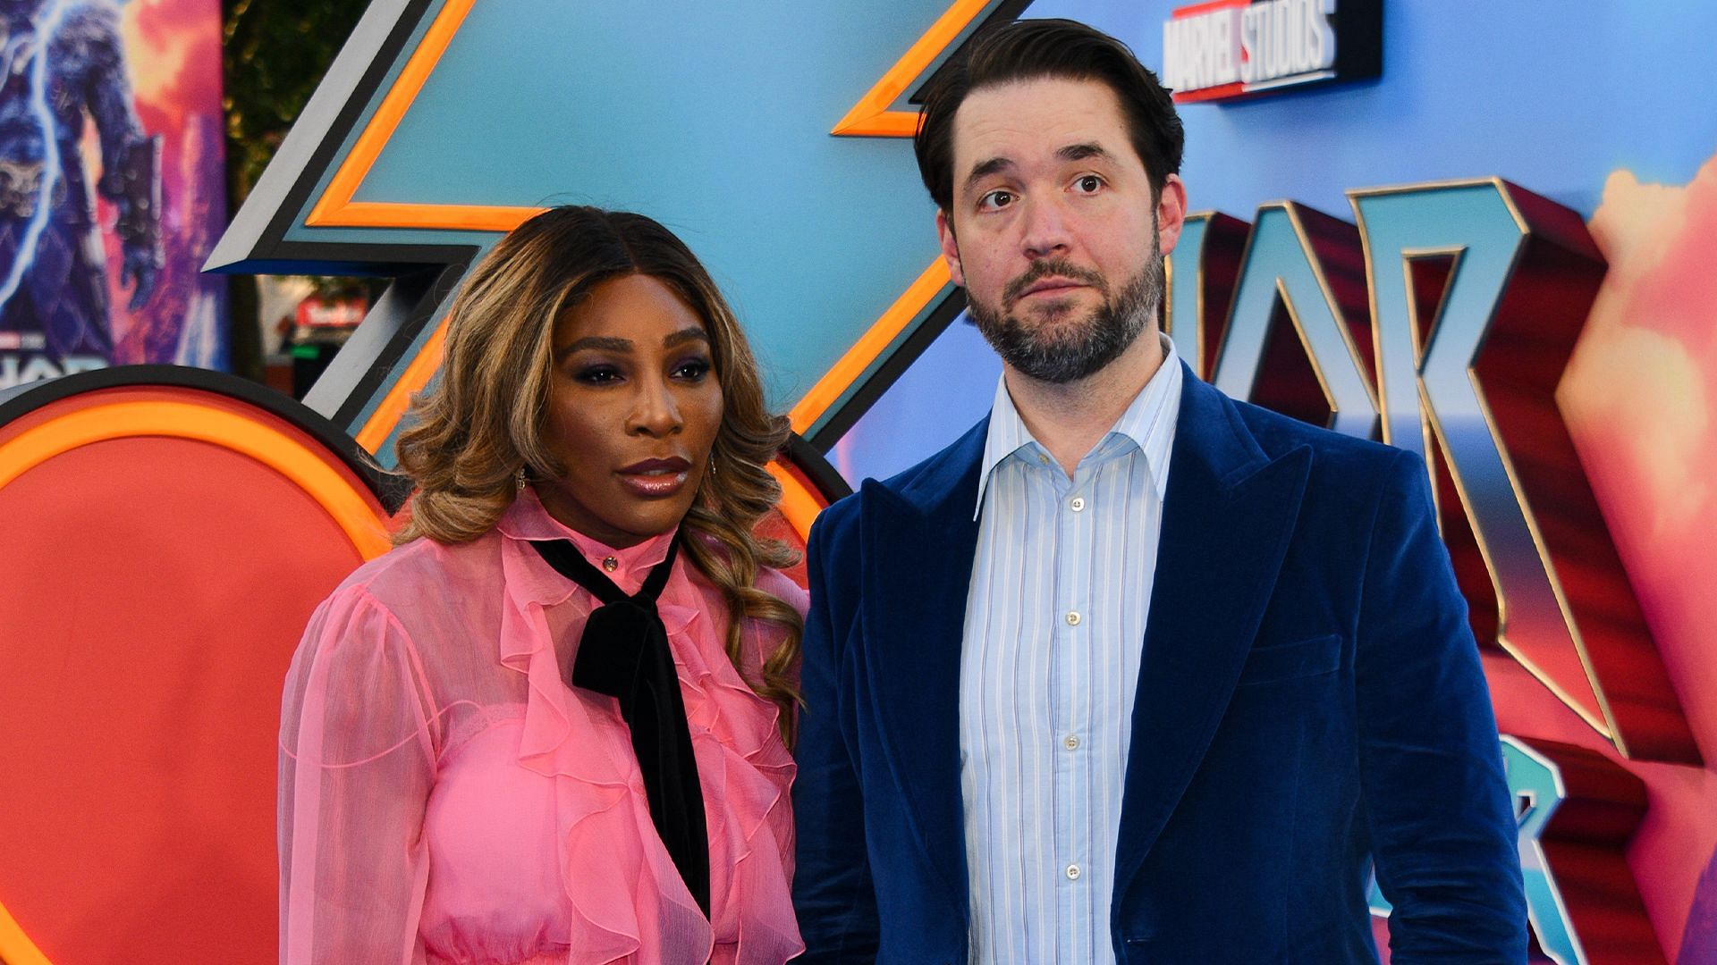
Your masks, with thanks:
<instances>
[{"instance_id":1,"label":"man's light blue striped button-up shirt with open collar","mask_svg":"<svg viewBox=\"0 0 1717 965\"><path fill-rule=\"evenodd\" d=\"M1109 898L1181 367L1070 479L1003 381L960 659L972 962L1114 962Z\"/></svg>"}]
</instances>

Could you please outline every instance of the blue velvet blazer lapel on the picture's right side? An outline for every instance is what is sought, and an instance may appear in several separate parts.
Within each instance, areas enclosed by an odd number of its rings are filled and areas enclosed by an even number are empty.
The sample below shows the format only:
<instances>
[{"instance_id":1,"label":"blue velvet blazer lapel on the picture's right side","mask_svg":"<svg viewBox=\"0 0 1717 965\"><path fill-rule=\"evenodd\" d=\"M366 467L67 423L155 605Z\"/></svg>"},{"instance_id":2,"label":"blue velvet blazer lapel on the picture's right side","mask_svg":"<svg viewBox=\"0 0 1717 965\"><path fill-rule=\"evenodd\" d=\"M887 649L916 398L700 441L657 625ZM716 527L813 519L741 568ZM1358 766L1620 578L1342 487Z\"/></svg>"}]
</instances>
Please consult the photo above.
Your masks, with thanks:
<instances>
[{"instance_id":1,"label":"blue velvet blazer lapel on the picture's right side","mask_svg":"<svg viewBox=\"0 0 1717 965\"><path fill-rule=\"evenodd\" d=\"M1121 797L1118 903L1228 709L1293 536L1312 450L1269 458L1235 405L1188 371L1169 460Z\"/></svg>"}]
</instances>

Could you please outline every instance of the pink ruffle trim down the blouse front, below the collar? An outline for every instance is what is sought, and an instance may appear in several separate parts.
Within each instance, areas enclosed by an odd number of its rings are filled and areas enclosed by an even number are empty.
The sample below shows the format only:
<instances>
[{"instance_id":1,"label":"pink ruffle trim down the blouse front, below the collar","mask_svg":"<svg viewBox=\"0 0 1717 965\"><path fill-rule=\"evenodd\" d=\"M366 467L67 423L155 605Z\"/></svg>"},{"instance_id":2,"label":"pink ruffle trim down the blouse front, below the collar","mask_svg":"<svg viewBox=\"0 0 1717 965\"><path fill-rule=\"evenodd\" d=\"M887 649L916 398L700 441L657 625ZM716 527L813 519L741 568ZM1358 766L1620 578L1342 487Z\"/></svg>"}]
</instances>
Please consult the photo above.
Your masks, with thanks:
<instances>
[{"instance_id":1,"label":"pink ruffle trim down the blouse front, below the collar","mask_svg":"<svg viewBox=\"0 0 1717 965\"><path fill-rule=\"evenodd\" d=\"M713 632L697 610L670 603L658 610L699 756L713 922L656 838L630 749L616 754L603 738L615 723L594 719L592 713L604 711L592 711L594 702L561 683L543 604L508 599L501 615L501 663L527 678L519 762L555 778L567 845L563 881L573 908L568 962L785 962L804 951L804 943L790 886L793 824L786 788L795 766L774 737L776 711L759 702L719 649L721 663L706 663L695 630Z\"/></svg>"}]
</instances>

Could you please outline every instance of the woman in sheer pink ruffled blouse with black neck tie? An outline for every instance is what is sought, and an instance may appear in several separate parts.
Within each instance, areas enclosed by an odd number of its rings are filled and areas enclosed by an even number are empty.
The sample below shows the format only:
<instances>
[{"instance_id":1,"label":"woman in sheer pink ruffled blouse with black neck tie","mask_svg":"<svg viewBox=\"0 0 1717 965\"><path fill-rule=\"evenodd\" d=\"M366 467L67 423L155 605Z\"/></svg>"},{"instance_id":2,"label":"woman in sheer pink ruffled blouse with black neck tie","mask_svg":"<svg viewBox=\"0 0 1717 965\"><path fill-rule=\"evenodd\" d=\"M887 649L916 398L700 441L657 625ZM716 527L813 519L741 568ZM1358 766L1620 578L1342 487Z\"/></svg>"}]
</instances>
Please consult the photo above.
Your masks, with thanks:
<instances>
[{"instance_id":1,"label":"woman in sheer pink ruffled blouse with black neck tie","mask_svg":"<svg viewBox=\"0 0 1717 965\"><path fill-rule=\"evenodd\" d=\"M558 208L453 302L400 546L311 618L282 716L282 960L767 962L802 591L785 436L640 215Z\"/></svg>"}]
</instances>

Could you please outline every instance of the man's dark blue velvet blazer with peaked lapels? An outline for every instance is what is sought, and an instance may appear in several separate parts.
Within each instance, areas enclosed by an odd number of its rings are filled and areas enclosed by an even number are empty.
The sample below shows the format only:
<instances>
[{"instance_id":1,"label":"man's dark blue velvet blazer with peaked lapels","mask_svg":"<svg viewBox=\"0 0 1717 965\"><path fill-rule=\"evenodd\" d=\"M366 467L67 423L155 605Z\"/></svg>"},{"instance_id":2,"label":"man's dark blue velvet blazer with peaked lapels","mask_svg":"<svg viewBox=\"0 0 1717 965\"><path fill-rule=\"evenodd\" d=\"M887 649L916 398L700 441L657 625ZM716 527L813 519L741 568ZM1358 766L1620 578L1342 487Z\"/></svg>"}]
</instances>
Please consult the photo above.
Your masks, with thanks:
<instances>
[{"instance_id":1,"label":"man's dark blue velvet blazer with peaked lapels","mask_svg":"<svg viewBox=\"0 0 1717 965\"><path fill-rule=\"evenodd\" d=\"M960 639L987 419L810 536L804 962L967 962ZM1513 807L1423 462L1186 373L1116 853L1123 963L1523 962Z\"/></svg>"}]
</instances>

